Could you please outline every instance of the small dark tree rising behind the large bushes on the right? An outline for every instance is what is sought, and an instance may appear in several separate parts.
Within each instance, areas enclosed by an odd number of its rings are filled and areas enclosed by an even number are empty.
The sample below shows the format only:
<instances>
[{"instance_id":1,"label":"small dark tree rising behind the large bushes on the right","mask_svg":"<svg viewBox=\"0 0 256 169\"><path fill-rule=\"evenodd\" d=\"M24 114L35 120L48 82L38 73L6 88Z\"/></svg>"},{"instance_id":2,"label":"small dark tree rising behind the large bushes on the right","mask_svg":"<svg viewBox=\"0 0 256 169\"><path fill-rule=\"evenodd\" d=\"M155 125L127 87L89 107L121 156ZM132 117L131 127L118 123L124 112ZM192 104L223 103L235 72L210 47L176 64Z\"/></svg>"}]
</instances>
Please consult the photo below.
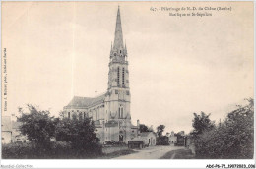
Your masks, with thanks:
<instances>
[{"instance_id":1,"label":"small dark tree rising behind the large bushes on the right","mask_svg":"<svg viewBox=\"0 0 256 169\"><path fill-rule=\"evenodd\" d=\"M202 134L204 131L212 130L215 127L213 121L210 120L210 115L206 115L204 112L201 112L201 115L194 113L194 119L192 126L194 127L193 132L191 133L193 137L197 137Z\"/></svg>"}]
</instances>

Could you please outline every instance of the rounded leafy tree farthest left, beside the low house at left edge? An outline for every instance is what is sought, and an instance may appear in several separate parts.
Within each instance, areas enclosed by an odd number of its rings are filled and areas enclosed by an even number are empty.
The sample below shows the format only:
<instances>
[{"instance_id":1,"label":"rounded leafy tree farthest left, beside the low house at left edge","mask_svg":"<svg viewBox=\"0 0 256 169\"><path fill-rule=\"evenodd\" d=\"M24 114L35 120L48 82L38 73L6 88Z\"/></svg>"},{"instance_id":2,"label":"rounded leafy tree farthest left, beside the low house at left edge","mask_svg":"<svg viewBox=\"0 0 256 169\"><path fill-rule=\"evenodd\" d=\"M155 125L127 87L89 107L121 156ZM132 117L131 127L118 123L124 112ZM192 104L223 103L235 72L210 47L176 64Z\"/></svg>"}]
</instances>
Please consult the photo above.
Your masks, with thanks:
<instances>
[{"instance_id":1,"label":"rounded leafy tree farthest left, beside the low house at left edge","mask_svg":"<svg viewBox=\"0 0 256 169\"><path fill-rule=\"evenodd\" d=\"M21 111L22 116L18 121L22 122L21 133L34 141L37 145L44 146L55 135L56 119L49 116L49 111L37 110L32 105L27 105L29 113Z\"/></svg>"}]
</instances>

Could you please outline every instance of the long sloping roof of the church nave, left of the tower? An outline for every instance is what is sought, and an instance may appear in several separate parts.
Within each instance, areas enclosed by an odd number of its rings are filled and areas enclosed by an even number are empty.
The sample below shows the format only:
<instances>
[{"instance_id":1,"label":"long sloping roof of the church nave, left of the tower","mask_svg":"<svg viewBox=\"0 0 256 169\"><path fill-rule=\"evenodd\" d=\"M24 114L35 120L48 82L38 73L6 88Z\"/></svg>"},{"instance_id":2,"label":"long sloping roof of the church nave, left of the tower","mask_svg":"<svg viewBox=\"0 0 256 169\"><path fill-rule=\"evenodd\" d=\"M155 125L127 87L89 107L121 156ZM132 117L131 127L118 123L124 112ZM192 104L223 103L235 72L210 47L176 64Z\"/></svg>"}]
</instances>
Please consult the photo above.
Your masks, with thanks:
<instances>
[{"instance_id":1,"label":"long sloping roof of the church nave, left of the tower","mask_svg":"<svg viewBox=\"0 0 256 169\"><path fill-rule=\"evenodd\" d=\"M65 108L87 108L94 106L96 104L103 103L105 99L105 94L99 95L97 97L79 97L74 96L70 103Z\"/></svg>"}]
</instances>

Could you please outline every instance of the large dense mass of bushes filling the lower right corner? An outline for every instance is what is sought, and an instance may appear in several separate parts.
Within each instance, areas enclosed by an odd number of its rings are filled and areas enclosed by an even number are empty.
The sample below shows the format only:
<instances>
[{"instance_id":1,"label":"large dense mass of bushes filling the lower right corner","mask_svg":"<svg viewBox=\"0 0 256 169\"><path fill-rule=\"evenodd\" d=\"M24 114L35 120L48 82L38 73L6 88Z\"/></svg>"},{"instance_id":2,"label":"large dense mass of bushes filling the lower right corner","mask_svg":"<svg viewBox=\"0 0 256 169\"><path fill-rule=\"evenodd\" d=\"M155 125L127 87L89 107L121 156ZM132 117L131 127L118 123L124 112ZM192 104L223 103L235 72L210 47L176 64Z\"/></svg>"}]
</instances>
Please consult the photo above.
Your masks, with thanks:
<instances>
[{"instance_id":1,"label":"large dense mass of bushes filling the lower right corner","mask_svg":"<svg viewBox=\"0 0 256 169\"><path fill-rule=\"evenodd\" d=\"M228 113L219 126L194 137L197 158L253 158L254 103Z\"/></svg>"}]
</instances>

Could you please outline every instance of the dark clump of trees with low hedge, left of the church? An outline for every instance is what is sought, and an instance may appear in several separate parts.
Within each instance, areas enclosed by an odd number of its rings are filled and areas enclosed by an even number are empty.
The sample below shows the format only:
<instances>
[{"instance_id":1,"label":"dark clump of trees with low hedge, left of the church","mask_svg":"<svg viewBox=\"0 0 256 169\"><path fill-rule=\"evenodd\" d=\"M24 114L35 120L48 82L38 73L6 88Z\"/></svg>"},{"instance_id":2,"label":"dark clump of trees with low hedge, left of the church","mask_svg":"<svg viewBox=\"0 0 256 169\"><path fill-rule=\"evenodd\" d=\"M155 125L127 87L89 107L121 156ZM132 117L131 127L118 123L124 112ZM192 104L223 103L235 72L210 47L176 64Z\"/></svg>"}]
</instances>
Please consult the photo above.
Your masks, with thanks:
<instances>
[{"instance_id":1,"label":"dark clump of trees with low hedge, left of the church","mask_svg":"<svg viewBox=\"0 0 256 169\"><path fill-rule=\"evenodd\" d=\"M92 158L102 154L96 142L92 119L58 119L48 111L39 111L28 105L29 113L23 113L21 132L29 143L9 143L2 146L6 159ZM50 141L56 138L57 141Z\"/></svg>"}]
</instances>

